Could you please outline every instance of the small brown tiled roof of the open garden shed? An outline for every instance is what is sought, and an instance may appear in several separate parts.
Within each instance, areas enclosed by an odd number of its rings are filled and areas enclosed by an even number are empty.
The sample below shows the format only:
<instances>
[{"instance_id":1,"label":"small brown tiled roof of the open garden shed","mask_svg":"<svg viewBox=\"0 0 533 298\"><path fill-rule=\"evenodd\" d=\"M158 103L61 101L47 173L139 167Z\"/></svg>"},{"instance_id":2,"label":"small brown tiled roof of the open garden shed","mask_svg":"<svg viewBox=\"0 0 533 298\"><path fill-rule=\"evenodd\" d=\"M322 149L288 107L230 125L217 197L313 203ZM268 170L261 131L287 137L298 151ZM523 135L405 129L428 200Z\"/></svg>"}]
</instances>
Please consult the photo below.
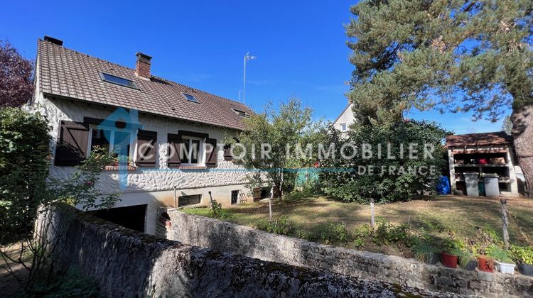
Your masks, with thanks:
<instances>
[{"instance_id":1,"label":"small brown tiled roof of the open garden shed","mask_svg":"<svg viewBox=\"0 0 533 298\"><path fill-rule=\"evenodd\" d=\"M468 133L465 135L455 135L446 137L446 146L486 146L486 145L508 145L512 144L512 136L504 131L493 133Z\"/></svg>"}]
</instances>

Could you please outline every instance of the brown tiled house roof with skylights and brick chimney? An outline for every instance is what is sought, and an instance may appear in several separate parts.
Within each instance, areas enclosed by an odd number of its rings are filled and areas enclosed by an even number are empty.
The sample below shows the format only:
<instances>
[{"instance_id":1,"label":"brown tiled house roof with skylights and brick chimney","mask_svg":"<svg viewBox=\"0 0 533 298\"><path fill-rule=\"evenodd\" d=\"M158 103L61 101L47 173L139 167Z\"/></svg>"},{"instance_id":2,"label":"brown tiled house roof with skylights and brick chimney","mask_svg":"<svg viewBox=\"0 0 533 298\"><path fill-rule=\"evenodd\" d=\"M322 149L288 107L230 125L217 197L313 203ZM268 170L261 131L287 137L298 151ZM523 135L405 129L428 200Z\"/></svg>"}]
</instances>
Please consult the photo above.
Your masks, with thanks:
<instances>
[{"instance_id":1,"label":"brown tiled house roof with skylights and brick chimney","mask_svg":"<svg viewBox=\"0 0 533 298\"><path fill-rule=\"evenodd\" d=\"M103 82L99 72L131 79L139 89ZM239 130L244 129L244 119L232 108L252 114L237 101L155 76L150 80L140 79L131 68L45 40L38 41L38 82L43 94ZM200 104L188 101L182 92L195 96Z\"/></svg>"}]
</instances>

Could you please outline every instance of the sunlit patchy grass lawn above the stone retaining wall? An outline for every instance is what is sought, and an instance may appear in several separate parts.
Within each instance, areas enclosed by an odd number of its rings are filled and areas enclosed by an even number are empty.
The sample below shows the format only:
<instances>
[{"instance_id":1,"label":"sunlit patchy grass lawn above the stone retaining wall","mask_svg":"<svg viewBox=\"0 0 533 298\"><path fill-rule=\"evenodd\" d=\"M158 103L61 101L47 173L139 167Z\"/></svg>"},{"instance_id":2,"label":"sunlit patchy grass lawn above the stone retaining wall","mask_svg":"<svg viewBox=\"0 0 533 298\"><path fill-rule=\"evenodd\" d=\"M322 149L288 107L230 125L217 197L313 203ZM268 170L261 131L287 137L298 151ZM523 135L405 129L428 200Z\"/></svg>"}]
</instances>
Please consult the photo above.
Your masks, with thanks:
<instances>
[{"instance_id":1,"label":"sunlit patchy grass lawn above the stone retaining wall","mask_svg":"<svg viewBox=\"0 0 533 298\"><path fill-rule=\"evenodd\" d=\"M533 199L510 198L507 200L510 211L510 242L518 245L531 245L533 241ZM244 226L257 226L268 221L268 202L239 204L224 207L222 220ZM342 203L325 197L284 200L273 202L274 218L286 216L294 226L290 236L317 235L330 223L343 223L348 233L370 223L370 206L357 203ZM209 209L183 209L189 214L208 216ZM405 223L412 231L447 237L451 233L468 243L480 233L480 228L490 226L500 236L501 215L498 199L486 197L439 196L411 202L377 204L376 216L394 224ZM306 237L303 237L306 238ZM320 237L313 241L324 242ZM355 248L350 241L331 241L334 245ZM390 255L411 257L409 251L397 245L376 245L366 243L365 250Z\"/></svg>"}]
</instances>

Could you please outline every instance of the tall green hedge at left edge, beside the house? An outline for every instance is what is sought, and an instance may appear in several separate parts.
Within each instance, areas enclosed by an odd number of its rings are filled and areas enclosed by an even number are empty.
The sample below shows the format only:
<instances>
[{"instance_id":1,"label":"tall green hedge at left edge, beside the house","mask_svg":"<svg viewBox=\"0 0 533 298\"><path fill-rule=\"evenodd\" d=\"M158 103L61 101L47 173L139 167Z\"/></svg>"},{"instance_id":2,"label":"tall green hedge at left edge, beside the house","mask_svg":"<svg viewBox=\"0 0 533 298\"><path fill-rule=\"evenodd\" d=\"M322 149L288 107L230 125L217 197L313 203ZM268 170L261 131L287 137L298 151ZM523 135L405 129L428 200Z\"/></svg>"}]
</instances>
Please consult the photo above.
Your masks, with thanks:
<instances>
[{"instance_id":1,"label":"tall green hedge at left edge, beside the house","mask_svg":"<svg viewBox=\"0 0 533 298\"><path fill-rule=\"evenodd\" d=\"M47 199L50 136L41 114L0 109L0 244L28 236Z\"/></svg>"}]
</instances>

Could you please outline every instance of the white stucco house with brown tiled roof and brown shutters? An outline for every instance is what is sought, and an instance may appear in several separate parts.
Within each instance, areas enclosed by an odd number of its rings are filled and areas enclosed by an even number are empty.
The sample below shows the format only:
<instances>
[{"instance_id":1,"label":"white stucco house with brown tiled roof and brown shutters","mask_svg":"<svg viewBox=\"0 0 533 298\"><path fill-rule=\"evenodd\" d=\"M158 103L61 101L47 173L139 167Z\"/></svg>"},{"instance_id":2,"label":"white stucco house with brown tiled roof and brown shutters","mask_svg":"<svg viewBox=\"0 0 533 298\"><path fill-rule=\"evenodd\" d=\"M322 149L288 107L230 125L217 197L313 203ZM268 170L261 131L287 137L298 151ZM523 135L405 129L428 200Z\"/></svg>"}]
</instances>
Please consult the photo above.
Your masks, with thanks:
<instances>
[{"instance_id":1,"label":"white stucco house with brown tiled roof and brown shutters","mask_svg":"<svg viewBox=\"0 0 533 298\"><path fill-rule=\"evenodd\" d=\"M246 171L222 140L242 131L253 112L152 75L148 55L137 53L132 69L69 50L55 38L38 40L30 106L50 121L50 175L68 177L95 145L127 157L127 166L109 165L100 182L104 194L122 192L115 208L97 211L109 221L153 234L161 207L249 197Z\"/></svg>"}]
</instances>

